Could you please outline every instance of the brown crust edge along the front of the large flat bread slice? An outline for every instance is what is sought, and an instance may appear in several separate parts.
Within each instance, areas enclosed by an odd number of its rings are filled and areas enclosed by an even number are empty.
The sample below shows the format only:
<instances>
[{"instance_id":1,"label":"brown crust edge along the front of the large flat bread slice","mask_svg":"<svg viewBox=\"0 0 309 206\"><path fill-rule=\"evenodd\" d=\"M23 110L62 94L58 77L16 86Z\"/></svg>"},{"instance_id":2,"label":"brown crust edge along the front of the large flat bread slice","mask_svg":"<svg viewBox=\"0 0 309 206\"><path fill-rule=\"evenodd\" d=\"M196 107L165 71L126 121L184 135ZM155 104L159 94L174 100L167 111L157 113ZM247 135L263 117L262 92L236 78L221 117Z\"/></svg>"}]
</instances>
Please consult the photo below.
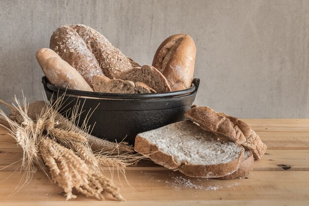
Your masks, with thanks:
<instances>
[{"instance_id":1,"label":"brown crust edge along the front of the large flat bread slice","mask_svg":"<svg viewBox=\"0 0 309 206\"><path fill-rule=\"evenodd\" d=\"M179 170L187 176L216 178L231 174L238 169L240 161L243 159L244 149L239 154L239 158L229 163L217 165L191 165L187 163L176 163L173 156L166 154L148 140L137 135L135 138L134 150L150 158L154 163L162 165L168 169Z\"/></svg>"}]
</instances>

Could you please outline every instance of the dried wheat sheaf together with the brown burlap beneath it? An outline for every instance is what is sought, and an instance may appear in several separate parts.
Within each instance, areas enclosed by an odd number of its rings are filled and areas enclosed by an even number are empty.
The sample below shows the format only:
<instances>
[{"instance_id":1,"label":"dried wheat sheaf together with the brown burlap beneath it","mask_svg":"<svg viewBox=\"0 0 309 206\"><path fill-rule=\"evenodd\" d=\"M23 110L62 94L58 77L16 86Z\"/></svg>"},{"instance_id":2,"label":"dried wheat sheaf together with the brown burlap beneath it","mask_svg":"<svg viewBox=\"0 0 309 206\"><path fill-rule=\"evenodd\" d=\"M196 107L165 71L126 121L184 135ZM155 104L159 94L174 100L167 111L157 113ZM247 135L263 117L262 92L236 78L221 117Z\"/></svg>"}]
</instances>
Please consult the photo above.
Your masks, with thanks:
<instances>
[{"instance_id":1,"label":"dried wheat sheaf together with the brown burlap beneath it","mask_svg":"<svg viewBox=\"0 0 309 206\"><path fill-rule=\"evenodd\" d=\"M116 167L124 174L127 165L135 164L142 157L132 154L132 147L124 142L116 144L89 135L86 122L83 129L77 128L72 123L78 118L76 108L72 120L57 112L61 98L52 105L42 101L27 105L26 98L21 104L15 96L9 117L0 110L0 125L9 130L9 135L23 149L20 168L25 172L23 184L17 189L28 184L39 167L63 188L67 200L77 197L73 189L99 200L104 200L106 194L124 200L112 179L103 175L102 168ZM96 146L94 153L89 143L97 142L100 147Z\"/></svg>"}]
</instances>

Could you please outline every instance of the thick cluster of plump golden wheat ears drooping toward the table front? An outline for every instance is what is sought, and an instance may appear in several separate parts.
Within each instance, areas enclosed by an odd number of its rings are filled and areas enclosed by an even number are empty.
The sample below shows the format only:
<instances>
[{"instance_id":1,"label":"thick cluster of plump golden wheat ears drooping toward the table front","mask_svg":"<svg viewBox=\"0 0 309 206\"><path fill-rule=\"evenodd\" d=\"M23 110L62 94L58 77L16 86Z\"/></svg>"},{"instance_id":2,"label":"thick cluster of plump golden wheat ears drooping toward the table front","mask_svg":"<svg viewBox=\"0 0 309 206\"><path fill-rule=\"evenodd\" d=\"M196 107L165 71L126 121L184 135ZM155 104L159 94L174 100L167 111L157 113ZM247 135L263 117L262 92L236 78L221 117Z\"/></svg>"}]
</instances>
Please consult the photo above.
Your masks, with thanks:
<instances>
[{"instance_id":1,"label":"thick cluster of plump golden wheat ears drooping toward the table front","mask_svg":"<svg viewBox=\"0 0 309 206\"><path fill-rule=\"evenodd\" d=\"M46 137L41 140L39 150L49 167L52 180L64 189L67 200L76 197L72 194L73 188L99 200L104 200L103 192L111 194L116 200L123 200L119 189L109 178L94 172L72 150Z\"/></svg>"}]
</instances>

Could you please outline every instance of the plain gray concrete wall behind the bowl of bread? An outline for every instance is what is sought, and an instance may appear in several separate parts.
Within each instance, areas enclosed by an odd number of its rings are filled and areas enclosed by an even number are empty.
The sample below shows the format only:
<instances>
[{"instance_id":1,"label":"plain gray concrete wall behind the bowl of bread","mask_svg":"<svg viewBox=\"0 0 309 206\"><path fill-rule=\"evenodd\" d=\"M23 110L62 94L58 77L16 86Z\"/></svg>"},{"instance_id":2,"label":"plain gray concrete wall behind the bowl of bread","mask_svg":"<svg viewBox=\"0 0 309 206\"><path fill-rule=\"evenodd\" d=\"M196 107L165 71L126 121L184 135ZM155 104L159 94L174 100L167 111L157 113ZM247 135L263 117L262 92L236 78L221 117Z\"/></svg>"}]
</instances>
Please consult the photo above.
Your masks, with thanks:
<instances>
[{"instance_id":1,"label":"plain gray concrete wall behind the bowl of bread","mask_svg":"<svg viewBox=\"0 0 309 206\"><path fill-rule=\"evenodd\" d=\"M195 103L240 118L308 118L309 1L1 0L0 99L42 99L36 51L64 24L86 24L151 64L165 38L197 48Z\"/></svg>"}]
</instances>

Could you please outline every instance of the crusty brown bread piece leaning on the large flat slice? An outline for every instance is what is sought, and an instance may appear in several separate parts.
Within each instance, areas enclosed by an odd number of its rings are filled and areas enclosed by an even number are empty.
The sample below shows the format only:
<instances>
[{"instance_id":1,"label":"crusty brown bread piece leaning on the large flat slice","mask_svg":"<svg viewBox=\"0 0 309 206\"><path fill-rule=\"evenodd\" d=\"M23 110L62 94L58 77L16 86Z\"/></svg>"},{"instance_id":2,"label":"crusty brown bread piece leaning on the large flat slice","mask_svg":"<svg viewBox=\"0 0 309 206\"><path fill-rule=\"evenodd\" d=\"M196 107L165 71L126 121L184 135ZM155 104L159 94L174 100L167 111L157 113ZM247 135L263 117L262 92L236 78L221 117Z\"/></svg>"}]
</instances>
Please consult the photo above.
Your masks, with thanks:
<instances>
[{"instance_id":1,"label":"crusty brown bread piece leaning on the large flat slice","mask_svg":"<svg viewBox=\"0 0 309 206\"><path fill-rule=\"evenodd\" d=\"M191 108L185 114L185 117L222 139L242 145L253 153L256 160L260 160L267 150L267 146L261 141L259 135L251 129L251 126L238 118L217 113L209 107Z\"/></svg>"}]
</instances>

